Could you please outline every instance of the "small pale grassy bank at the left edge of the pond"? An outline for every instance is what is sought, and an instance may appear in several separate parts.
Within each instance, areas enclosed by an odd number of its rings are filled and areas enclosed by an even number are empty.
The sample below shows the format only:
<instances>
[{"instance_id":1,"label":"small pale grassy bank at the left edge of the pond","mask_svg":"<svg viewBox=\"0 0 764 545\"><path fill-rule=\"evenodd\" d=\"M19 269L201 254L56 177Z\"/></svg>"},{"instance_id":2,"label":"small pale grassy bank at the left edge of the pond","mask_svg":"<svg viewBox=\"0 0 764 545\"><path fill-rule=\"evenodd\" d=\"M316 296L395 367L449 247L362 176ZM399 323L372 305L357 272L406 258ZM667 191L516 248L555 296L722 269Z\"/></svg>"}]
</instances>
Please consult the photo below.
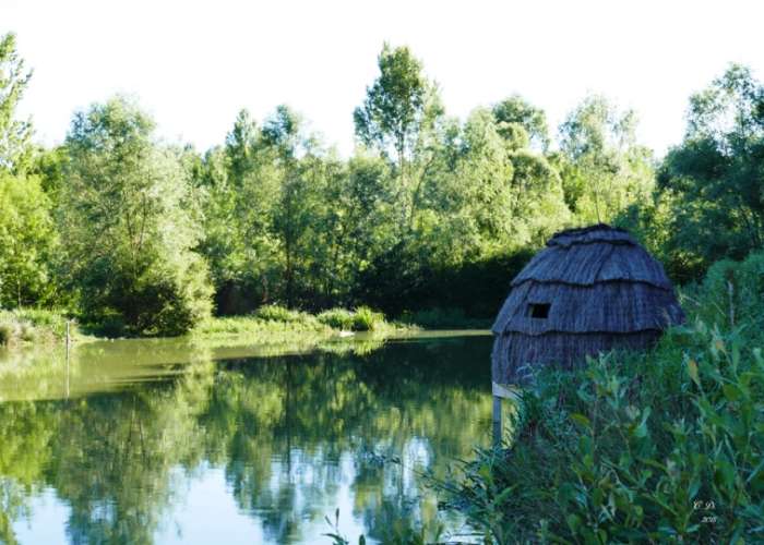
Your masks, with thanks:
<instances>
[{"instance_id":1,"label":"small pale grassy bank at the left edge of the pond","mask_svg":"<svg viewBox=\"0 0 764 545\"><path fill-rule=\"evenodd\" d=\"M21 308L0 311L0 346L19 347L63 341L68 317L60 312ZM70 332L79 332L72 325Z\"/></svg>"}]
</instances>

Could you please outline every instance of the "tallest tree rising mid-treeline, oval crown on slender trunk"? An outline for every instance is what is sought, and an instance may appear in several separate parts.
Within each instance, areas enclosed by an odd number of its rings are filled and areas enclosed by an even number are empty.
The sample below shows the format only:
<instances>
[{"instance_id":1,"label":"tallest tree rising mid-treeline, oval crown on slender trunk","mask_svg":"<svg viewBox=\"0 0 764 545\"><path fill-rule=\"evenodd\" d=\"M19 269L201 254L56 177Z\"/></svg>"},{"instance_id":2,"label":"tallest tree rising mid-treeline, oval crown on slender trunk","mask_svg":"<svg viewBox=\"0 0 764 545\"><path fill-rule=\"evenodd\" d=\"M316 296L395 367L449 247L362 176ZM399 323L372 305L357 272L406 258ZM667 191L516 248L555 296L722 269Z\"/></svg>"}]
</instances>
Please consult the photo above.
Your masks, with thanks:
<instances>
[{"instance_id":1,"label":"tallest tree rising mid-treeline, oval crown on slender trunk","mask_svg":"<svg viewBox=\"0 0 764 545\"><path fill-rule=\"evenodd\" d=\"M438 87L407 47L384 44L380 75L367 87L363 105L354 111L356 135L389 158L397 169L399 230L413 228L416 194L429 162L427 148L443 114Z\"/></svg>"}]
</instances>

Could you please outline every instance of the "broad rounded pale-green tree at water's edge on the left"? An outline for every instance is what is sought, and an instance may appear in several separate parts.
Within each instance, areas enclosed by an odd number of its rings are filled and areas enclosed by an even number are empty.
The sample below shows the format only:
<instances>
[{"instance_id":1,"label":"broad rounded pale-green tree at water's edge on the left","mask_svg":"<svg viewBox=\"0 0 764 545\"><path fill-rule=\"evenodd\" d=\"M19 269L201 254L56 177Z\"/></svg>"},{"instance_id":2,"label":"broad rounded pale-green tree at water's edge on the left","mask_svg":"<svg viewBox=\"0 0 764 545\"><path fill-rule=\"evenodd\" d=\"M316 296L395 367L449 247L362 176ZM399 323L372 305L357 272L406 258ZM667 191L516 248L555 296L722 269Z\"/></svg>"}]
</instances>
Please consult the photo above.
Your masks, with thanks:
<instances>
[{"instance_id":1,"label":"broad rounded pale-green tree at water's edge on the left","mask_svg":"<svg viewBox=\"0 0 764 545\"><path fill-rule=\"evenodd\" d=\"M210 313L211 289L186 172L153 129L122 97L75 114L59 223L87 317L178 335Z\"/></svg>"}]
</instances>

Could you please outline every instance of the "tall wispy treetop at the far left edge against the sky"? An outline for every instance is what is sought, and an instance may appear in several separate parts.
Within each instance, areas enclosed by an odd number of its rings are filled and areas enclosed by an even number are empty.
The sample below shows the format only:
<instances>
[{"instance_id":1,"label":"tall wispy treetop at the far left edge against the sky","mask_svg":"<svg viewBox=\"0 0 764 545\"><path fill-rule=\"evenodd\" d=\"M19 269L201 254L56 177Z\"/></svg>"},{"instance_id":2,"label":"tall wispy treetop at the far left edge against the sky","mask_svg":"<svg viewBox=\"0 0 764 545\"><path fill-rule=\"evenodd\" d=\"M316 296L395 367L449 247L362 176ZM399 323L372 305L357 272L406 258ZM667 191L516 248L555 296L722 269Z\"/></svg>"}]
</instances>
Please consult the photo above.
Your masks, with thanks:
<instances>
[{"instance_id":1,"label":"tall wispy treetop at the far left edge against the sky","mask_svg":"<svg viewBox=\"0 0 764 545\"><path fill-rule=\"evenodd\" d=\"M15 119L16 107L32 72L16 51L16 37L0 36L0 168L23 171L29 158L32 124Z\"/></svg>"}]
</instances>

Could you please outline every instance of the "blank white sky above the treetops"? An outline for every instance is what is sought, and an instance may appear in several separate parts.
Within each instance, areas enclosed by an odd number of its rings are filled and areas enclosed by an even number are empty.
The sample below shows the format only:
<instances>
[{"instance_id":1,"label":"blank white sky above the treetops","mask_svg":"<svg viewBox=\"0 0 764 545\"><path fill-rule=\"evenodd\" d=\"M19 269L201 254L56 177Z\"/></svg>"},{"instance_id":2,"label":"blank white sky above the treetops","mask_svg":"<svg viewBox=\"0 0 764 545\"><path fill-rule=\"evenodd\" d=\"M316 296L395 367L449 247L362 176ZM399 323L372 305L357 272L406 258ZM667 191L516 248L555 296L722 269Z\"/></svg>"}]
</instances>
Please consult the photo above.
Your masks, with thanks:
<instances>
[{"instance_id":1,"label":"blank white sky above the treetops","mask_svg":"<svg viewBox=\"0 0 764 545\"><path fill-rule=\"evenodd\" d=\"M756 0L0 0L8 31L34 69L22 113L46 144L75 109L129 93L162 136L200 150L241 108L261 120L285 102L347 155L384 40L411 47L450 114L520 93L556 128L602 93L637 111L659 154L681 140L690 94L730 62L764 76Z\"/></svg>"}]
</instances>

